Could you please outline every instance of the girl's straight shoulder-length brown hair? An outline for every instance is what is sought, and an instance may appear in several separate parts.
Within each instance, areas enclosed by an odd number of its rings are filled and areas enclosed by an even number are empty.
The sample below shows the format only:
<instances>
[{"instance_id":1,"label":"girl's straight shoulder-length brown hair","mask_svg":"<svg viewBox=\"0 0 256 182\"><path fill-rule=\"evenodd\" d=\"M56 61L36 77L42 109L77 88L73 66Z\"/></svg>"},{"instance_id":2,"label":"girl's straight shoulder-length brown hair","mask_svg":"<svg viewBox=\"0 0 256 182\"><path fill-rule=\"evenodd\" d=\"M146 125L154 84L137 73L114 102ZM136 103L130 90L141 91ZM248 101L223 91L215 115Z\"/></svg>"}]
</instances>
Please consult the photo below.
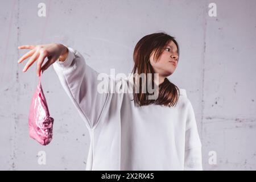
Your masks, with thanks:
<instances>
[{"instance_id":1,"label":"girl's straight shoulder-length brown hair","mask_svg":"<svg viewBox=\"0 0 256 182\"><path fill-rule=\"evenodd\" d=\"M150 64L150 56L153 51L155 51L154 59L158 60L164 49L166 48L166 45L170 42L174 42L177 46L177 54L179 55L179 46L173 36L170 36L166 34L165 32L159 32L155 34L150 34L144 36L139 42L136 44L134 48L133 53L133 59L134 59L134 68L133 68L133 74L141 75L142 73L146 73L146 75L151 75L151 83L154 85L155 88L155 82L154 82L154 69L152 68L152 65ZM135 78L133 78L133 91L135 89ZM141 82L139 81L139 89L145 89L147 86L147 80L148 77L146 76L146 81ZM156 100L148 100L148 96L150 93L147 92L139 92L135 93L133 92L133 100L135 104L138 104L139 106L143 105L150 105L150 104L156 104L156 105L164 105L164 106L175 106L177 103L177 100L179 99L179 88L177 88L176 85L174 85L172 82L170 82L167 78L164 79L164 81L158 85L158 98ZM138 89L138 88L137 88ZM131 101L133 101L131 100Z\"/></svg>"}]
</instances>

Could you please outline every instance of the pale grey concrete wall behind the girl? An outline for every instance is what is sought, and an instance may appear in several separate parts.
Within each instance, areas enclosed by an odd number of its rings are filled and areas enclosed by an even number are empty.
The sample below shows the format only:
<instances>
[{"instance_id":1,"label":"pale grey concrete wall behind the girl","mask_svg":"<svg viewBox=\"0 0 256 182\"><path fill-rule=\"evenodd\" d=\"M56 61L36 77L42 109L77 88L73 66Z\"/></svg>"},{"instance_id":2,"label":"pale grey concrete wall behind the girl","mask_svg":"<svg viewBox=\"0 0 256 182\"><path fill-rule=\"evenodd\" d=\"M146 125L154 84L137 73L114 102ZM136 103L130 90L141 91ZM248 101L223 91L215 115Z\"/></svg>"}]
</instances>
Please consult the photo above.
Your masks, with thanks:
<instances>
[{"instance_id":1,"label":"pale grey concrete wall behind the girl","mask_svg":"<svg viewBox=\"0 0 256 182\"><path fill-rule=\"evenodd\" d=\"M46 16L39 16L39 3ZM210 16L215 3L217 16ZM25 44L67 44L98 72L131 73L143 36L165 31L180 44L170 80L187 90L203 144L204 170L256 169L256 1L0 1L0 169L84 170L89 133L52 67L42 86L53 140L28 136L36 64L22 72ZM46 164L40 164L40 151ZM212 155L214 154L214 155ZM216 157L214 163L213 157Z\"/></svg>"}]
</instances>

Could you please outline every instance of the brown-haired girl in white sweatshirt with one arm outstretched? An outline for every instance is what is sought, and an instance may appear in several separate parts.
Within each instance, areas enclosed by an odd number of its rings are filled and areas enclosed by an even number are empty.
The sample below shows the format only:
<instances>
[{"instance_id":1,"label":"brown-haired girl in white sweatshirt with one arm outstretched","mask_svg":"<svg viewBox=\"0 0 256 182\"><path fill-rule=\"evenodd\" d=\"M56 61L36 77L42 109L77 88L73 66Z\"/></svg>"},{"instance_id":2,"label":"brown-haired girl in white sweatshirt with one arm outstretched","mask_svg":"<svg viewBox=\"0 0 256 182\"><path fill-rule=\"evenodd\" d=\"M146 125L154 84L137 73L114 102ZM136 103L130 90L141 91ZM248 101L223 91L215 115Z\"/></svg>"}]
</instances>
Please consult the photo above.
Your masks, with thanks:
<instances>
[{"instance_id":1,"label":"brown-haired girl in white sweatshirt with one arm outstretched","mask_svg":"<svg viewBox=\"0 0 256 182\"><path fill-rule=\"evenodd\" d=\"M201 142L185 89L168 80L179 61L179 46L165 32L144 36L134 49L133 73L158 74L146 81L115 79L117 90L158 86L158 97L145 92L98 92L100 73L76 49L63 44L20 46L31 49L24 72L37 61L38 75L51 64L90 134L86 170L201 170ZM44 59L48 61L43 65ZM148 82L149 81L149 82ZM150 85L150 84L149 84ZM135 90L135 89L134 89ZM110 84L108 85L110 91Z\"/></svg>"}]
</instances>

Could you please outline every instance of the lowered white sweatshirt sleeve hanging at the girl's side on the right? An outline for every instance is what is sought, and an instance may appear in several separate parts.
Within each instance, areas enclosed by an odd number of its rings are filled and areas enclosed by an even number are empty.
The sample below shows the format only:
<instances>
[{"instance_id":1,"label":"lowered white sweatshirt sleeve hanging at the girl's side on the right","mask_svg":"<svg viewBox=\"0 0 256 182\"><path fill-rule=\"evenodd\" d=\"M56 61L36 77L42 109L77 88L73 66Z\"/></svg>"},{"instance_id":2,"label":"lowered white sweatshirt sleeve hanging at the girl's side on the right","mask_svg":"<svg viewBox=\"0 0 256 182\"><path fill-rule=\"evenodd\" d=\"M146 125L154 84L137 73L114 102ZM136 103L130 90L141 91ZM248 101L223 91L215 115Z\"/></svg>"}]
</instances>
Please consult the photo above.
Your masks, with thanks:
<instances>
[{"instance_id":1,"label":"lowered white sweatshirt sleeve hanging at the girl's side on the right","mask_svg":"<svg viewBox=\"0 0 256 182\"><path fill-rule=\"evenodd\" d=\"M191 102L188 102L184 170L203 170L201 141L197 131L196 118Z\"/></svg>"}]
</instances>

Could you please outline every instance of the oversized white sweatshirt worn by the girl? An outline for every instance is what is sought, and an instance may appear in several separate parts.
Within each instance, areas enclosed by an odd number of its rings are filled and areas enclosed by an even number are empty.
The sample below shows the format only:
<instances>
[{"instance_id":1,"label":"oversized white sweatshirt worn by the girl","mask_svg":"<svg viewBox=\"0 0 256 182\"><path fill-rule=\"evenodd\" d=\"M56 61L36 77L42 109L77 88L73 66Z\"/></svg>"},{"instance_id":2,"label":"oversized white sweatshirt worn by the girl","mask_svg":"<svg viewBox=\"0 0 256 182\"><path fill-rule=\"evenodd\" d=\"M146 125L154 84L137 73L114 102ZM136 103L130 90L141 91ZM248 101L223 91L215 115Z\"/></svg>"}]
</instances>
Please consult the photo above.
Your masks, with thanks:
<instances>
[{"instance_id":1,"label":"oversized white sweatshirt worn by the girl","mask_svg":"<svg viewBox=\"0 0 256 182\"><path fill-rule=\"evenodd\" d=\"M203 169L195 114L185 89L180 89L175 107L139 107L131 101L132 93L98 93L99 73L71 47L67 59L55 61L53 68L89 130L86 170ZM133 80L122 81L119 89L127 81Z\"/></svg>"}]
</instances>

